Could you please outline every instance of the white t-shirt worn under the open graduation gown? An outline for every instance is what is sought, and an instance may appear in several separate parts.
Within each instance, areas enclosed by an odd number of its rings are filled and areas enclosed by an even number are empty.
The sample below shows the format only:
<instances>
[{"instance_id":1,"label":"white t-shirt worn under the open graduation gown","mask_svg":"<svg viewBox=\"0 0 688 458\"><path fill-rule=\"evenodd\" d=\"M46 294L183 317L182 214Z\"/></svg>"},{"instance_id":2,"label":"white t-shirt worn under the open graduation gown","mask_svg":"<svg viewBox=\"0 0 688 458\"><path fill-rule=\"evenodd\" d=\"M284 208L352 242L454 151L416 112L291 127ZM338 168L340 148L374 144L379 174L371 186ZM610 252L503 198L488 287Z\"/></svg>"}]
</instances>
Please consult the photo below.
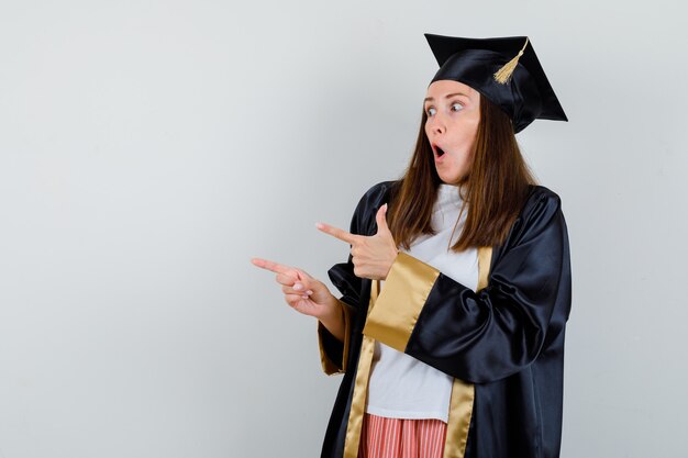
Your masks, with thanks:
<instances>
[{"instance_id":1,"label":"white t-shirt worn under the open graduation gown","mask_svg":"<svg viewBox=\"0 0 688 458\"><path fill-rule=\"evenodd\" d=\"M456 224L460 205L458 188L440 185L432 214L432 226L437 233L422 235L409 250L400 250L475 291L478 287L477 249L462 253L450 249L458 239L466 220L467 209ZM366 412L389 418L437 418L447 422L452 376L379 342L375 343L370 371Z\"/></svg>"}]
</instances>

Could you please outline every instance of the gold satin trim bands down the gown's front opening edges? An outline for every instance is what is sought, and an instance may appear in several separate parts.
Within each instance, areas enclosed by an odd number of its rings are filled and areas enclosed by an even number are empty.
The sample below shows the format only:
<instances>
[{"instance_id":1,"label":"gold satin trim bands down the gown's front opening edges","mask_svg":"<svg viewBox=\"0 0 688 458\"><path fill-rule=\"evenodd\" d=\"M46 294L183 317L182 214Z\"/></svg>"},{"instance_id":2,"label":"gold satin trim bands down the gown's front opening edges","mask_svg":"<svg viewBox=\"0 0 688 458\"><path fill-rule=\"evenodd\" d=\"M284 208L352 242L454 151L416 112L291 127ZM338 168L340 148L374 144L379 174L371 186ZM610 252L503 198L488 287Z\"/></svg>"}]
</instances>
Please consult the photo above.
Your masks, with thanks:
<instances>
[{"instance_id":1,"label":"gold satin trim bands down the gown's front opening edges","mask_svg":"<svg viewBox=\"0 0 688 458\"><path fill-rule=\"evenodd\" d=\"M478 247L478 288L480 291L487 287L492 258L492 247ZM375 280L370 284L370 302L368 313L373 310L375 301L380 292L380 282ZM356 381L352 406L346 425L346 437L344 439L344 458L356 458L358 456L358 445L360 442L360 429L363 416L366 407L366 395L368 390L368 379L370 377L370 366L373 364L373 351L375 350L375 339L366 335L363 336L360 355L358 357L358 368L356 370ZM450 400L450 418L446 428L446 442L444 444L443 458L463 458L468 438L468 427L473 413L473 402L475 389L473 383L454 379L452 384L452 398Z\"/></svg>"}]
</instances>

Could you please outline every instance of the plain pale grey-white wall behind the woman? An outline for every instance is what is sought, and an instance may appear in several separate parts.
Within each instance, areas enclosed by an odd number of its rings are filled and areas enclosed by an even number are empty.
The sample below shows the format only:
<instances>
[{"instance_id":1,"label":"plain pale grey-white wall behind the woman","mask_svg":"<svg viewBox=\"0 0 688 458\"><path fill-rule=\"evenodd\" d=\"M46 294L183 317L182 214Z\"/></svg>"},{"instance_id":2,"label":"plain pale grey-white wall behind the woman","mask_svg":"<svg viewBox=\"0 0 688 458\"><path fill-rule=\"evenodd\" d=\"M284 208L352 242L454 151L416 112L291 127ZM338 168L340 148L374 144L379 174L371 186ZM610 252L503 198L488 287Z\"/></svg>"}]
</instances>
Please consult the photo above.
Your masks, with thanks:
<instances>
[{"instance_id":1,"label":"plain pale grey-white wall behind the woman","mask_svg":"<svg viewBox=\"0 0 688 458\"><path fill-rule=\"evenodd\" d=\"M341 379L249 258L330 284L314 223L407 166L426 32L530 36L569 118L518 135L570 237L562 456L688 456L685 15L2 0L0 458L319 456Z\"/></svg>"}]
</instances>

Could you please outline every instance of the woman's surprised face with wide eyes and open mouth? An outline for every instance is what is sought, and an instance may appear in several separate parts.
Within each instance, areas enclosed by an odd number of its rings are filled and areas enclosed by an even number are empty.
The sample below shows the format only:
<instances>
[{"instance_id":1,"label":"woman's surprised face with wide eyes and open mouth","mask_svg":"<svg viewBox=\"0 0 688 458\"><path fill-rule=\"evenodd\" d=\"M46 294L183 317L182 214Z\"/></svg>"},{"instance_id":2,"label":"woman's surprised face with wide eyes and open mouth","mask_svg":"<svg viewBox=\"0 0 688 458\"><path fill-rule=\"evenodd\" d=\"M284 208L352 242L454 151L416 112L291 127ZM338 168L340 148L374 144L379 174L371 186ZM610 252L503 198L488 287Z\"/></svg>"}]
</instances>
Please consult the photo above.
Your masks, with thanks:
<instances>
[{"instance_id":1,"label":"woman's surprised face with wide eyes and open mouth","mask_svg":"<svg viewBox=\"0 0 688 458\"><path fill-rule=\"evenodd\" d=\"M480 121L480 92L463 82L441 79L428 87L425 135L437 175L457 185L470 169Z\"/></svg>"}]
</instances>

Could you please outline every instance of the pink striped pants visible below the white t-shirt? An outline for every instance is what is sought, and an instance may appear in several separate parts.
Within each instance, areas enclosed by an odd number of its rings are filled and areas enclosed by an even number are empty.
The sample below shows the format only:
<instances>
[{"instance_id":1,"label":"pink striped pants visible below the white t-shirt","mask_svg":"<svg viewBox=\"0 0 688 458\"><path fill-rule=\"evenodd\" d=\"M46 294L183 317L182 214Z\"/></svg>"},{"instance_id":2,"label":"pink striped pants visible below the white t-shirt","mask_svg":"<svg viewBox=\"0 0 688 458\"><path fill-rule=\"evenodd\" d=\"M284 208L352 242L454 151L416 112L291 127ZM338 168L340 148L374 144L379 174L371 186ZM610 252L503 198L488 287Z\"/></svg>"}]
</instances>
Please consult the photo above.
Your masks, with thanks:
<instances>
[{"instance_id":1,"label":"pink striped pants visible below the white t-shirt","mask_svg":"<svg viewBox=\"0 0 688 458\"><path fill-rule=\"evenodd\" d=\"M358 458L442 458L446 423L441 420L363 417Z\"/></svg>"}]
</instances>

